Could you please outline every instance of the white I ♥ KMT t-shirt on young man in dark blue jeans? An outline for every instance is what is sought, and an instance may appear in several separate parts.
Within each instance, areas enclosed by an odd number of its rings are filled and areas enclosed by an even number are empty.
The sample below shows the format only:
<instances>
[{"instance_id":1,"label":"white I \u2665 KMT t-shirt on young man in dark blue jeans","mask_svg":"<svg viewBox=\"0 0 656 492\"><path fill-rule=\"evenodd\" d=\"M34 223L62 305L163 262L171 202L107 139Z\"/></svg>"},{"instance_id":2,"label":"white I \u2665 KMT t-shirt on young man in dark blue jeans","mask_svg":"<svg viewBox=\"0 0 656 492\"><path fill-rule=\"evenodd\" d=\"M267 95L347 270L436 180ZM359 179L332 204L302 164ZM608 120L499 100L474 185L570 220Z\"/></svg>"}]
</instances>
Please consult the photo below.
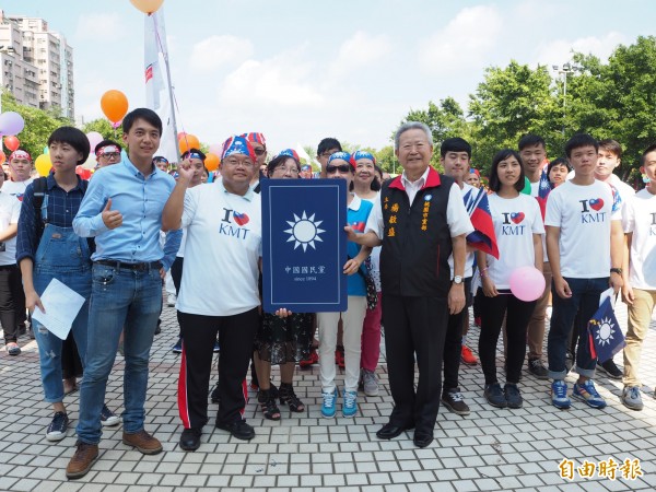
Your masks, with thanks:
<instances>
[{"instance_id":1,"label":"white I \u2665 KMT t-shirt on young man in dark blue jeans","mask_svg":"<svg viewBox=\"0 0 656 492\"><path fill-rule=\"evenodd\" d=\"M622 219L610 187L565 181L549 194L544 225L560 227L561 274L597 279L610 274L610 222Z\"/></svg>"}]
</instances>

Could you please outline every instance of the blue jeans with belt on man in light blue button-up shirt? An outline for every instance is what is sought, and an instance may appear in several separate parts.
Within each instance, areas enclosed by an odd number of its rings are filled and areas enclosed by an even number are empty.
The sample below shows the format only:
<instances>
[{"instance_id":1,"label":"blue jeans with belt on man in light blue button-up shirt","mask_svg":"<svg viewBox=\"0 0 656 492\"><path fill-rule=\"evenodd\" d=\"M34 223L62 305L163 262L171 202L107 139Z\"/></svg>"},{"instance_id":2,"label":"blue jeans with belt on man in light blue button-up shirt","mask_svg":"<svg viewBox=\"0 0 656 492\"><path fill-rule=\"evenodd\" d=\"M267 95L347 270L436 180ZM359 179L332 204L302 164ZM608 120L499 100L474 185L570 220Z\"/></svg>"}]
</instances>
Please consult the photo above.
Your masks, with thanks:
<instances>
[{"instance_id":1,"label":"blue jeans with belt on man in light blue button-up shirt","mask_svg":"<svg viewBox=\"0 0 656 492\"><path fill-rule=\"evenodd\" d=\"M161 305L162 279L157 269L132 271L94 263L86 366L77 429L81 442L101 441L101 411L121 331L126 361L124 431L133 434L143 429L148 363Z\"/></svg>"}]
</instances>

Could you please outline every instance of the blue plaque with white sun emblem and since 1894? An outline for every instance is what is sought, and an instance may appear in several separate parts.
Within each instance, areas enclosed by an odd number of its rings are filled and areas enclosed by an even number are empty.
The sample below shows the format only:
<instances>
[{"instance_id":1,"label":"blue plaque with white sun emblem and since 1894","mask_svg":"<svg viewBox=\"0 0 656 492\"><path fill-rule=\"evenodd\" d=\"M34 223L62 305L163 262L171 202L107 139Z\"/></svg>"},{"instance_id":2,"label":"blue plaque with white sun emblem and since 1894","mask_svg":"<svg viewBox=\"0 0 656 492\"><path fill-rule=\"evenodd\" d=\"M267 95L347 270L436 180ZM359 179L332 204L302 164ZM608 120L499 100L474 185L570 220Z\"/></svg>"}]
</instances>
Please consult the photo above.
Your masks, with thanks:
<instances>
[{"instance_id":1,"label":"blue plaque with white sun emblem and since 1894","mask_svg":"<svg viewBox=\"0 0 656 492\"><path fill-rule=\"evenodd\" d=\"M260 184L265 311L347 311L345 180L262 179Z\"/></svg>"}]
</instances>

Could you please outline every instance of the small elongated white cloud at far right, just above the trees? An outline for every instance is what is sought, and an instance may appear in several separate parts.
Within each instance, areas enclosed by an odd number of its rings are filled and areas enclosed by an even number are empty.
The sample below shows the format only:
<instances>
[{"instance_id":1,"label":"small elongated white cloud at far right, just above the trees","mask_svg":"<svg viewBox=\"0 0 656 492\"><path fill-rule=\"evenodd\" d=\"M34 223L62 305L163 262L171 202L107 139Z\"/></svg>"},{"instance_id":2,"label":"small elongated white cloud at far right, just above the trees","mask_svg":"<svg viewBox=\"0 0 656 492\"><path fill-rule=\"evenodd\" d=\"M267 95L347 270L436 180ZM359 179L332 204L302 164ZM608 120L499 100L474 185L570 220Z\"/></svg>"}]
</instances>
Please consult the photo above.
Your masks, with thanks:
<instances>
[{"instance_id":1,"label":"small elongated white cloud at far right, just above the trees","mask_svg":"<svg viewBox=\"0 0 656 492\"><path fill-rule=\"evenodd\" d=\"M535 59L538 63L562 65L572 60L572 52L593 54L602 61L607 60L619 44L628 43L626 37L618 32L610 32L604 37L587 36L574 40L552 39L537 47Z\"/></svg>"}]
</instances>

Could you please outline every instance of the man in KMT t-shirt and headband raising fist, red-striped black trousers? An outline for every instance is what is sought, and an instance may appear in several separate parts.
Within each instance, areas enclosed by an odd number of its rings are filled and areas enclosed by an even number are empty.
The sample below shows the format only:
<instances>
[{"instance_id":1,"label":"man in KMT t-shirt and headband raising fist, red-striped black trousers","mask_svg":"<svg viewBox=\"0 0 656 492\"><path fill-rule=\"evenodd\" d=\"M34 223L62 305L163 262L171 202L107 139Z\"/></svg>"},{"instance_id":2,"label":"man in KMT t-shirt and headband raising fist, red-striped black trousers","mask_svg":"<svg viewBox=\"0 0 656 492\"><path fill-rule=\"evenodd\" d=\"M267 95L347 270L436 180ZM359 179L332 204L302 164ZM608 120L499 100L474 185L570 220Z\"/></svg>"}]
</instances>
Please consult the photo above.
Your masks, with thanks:
<instances>
[{"instance_id":1,"label":"man in KMT t-shirt and headband raising fist, red-striped black trousers","mask_svg":"<svg viewBox=\"0 0 656 492\"><path fill-rule=\"evenodd\" d=\"M188 189L194 171L184 161L162 214L164 230L187 229L176 305L183 337L178 410L185 450L198 449L209 420L208 387L218 333L221 405L216 427L238 440L255 437L243 418L247 395L242 382L259 323L261 203L249 186L259 168L245 138L233 137L223 149L222 178L211 185Z\"/></svg>"}]
</instances>

